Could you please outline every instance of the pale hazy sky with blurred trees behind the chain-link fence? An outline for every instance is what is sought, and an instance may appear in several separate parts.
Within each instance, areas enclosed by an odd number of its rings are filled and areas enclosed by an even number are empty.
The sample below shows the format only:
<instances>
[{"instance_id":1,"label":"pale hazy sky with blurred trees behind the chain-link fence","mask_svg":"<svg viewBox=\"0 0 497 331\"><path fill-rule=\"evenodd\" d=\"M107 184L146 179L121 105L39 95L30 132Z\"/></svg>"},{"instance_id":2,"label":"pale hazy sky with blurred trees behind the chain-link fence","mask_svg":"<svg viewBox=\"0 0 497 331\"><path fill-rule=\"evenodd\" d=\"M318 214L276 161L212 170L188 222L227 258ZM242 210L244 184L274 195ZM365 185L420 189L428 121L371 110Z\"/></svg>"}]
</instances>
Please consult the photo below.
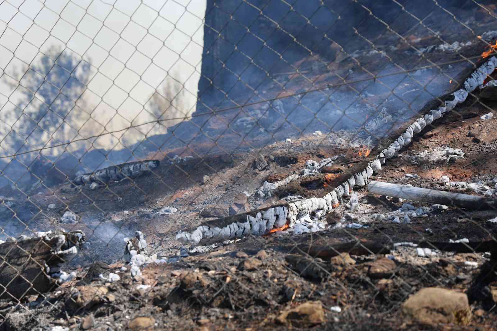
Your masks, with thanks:
<instances>
[{"instance_id":1,"label":"pale hazy sky with blurred trees behind the chain-link fence","mask_svg":"<svg viewBox=\"0 0 497 331\"><path fill-rule=\"evenodd\" d=\"M156 91L163 108L165 97L179 93L162 118L193 112L205 8L205 0L1 1L0 154L19 141L27 150L154 120ZM166 128L107 135L95 147L131 144L147 133ZM68 149L82 146L89 147Z\"/></svg>"}]
</instances>

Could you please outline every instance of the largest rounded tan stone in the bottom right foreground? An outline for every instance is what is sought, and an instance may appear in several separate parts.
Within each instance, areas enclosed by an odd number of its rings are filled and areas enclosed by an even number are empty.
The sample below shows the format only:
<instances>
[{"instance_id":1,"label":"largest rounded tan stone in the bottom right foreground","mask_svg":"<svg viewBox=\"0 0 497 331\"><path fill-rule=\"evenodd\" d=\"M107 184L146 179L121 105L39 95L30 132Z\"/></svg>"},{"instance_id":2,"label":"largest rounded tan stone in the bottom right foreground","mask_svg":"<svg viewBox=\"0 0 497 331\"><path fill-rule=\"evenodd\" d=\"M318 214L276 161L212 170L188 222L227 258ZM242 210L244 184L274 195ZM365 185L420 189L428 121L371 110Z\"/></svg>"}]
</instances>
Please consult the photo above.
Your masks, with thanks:
<instances>
[{"instance_id":1,"label":"largest rounded tan stone in the bottom right foreground","mask_svg":"<svg viewBox=\"0 0 497 331\"><path fill-rule=\"evenodd\" d=\"M454 323L461 313L469 313L468 296L438 287L426 287L402 304L404 314L421 323Z\"/></svg>"}]
</instances>

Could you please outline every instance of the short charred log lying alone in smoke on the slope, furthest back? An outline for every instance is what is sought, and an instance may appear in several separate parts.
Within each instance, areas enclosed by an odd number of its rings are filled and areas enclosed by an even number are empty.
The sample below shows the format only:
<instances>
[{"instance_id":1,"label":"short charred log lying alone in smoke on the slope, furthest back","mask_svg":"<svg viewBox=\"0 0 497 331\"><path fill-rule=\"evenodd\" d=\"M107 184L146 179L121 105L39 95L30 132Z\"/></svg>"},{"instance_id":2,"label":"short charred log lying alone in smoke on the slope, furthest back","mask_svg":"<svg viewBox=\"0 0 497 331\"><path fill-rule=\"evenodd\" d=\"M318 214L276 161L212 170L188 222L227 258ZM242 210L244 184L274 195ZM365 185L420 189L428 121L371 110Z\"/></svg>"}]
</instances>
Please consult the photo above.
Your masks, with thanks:
<instances>
[{"instance_id":1,"label":"short charred log lying alone in smoke on the slope, furthest back","mask_svg":"<svg viewBox=\"0 0 497 331\"><path fill-rule=\"evenodd\" d=\"M137 162L123 163L121 165L112 165L103 169L96 170L92 173L85 173L74 178L75 185L102 183L106 184L111 181L119 181L124 178L136 178L159 166L159 160L145 160Z\"/></svg>"}]
</instances>

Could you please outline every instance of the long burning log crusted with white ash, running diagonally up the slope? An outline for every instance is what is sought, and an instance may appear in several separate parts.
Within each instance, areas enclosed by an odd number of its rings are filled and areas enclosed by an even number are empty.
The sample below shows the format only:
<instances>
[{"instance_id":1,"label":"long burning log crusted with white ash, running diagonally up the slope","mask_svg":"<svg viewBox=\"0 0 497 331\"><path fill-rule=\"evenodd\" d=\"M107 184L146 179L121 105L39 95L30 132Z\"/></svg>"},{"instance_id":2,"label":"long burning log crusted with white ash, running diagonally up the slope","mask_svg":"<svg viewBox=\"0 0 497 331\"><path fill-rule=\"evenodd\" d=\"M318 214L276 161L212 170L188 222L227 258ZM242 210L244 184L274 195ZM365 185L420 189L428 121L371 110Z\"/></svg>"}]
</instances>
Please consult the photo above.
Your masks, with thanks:
<instances>
[{"instance_id":1,"label":"long burning log crusted with white ash, running diagonally up the slope","mask_svg":"<svg viewBox=\"0 0 497 331\"><path fill-rule=\"evenodd\" d=\"M462 103L472 92L484 83L488 75L492 74L497 66L497 58L491 57L483 63L470 77L464 81L464 88L449 94L435 109L429 110L422 117L417 118L398 138L387 148L383 149L374 160L369 161L361 171L353 173L342 183L336 185L324 198L304 199L289 204L254 210L244 214L237 214L201 224L197 228L180 231L176 240L183 244L206 245L229 239L242 238L248 234L265 235L284 227L292 227L299 223L299 219L310 216L310 213L320 209L322 217L336 206L353 188L364 187L371 175L380 170L386 160L393 158L403 147L409 145L414 134L420 133L427 125L439 119L452 110L458 103ZM329 163L322 165L324 167ZM392 194L389 194L392 196Z\"/></svg>"}]
</instances>

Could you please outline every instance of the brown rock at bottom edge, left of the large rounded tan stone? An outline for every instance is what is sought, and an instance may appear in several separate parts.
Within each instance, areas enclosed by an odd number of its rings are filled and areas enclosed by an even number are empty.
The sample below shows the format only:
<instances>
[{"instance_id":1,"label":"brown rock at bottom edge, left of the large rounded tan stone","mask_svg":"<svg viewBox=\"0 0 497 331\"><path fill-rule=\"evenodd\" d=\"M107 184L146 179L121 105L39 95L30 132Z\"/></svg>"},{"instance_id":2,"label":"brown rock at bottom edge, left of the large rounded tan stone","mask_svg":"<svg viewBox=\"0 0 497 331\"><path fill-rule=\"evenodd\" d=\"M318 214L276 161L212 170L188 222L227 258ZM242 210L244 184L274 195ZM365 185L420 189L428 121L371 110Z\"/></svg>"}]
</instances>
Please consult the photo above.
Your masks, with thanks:
<instances>
[{"instance_id":1,"label":"brown rock at bottom edge, left of the large rounded tan stone","mask_svg":"<svg viewBox=\"0 0 497 331\"><path fill-rule=\"evenodd\" d=\"M280 324L301 324L305 326L325 322L325 311L321 301L309 301L294 309L281 313L276 322Z\"/></svg>"}]
</instances>

